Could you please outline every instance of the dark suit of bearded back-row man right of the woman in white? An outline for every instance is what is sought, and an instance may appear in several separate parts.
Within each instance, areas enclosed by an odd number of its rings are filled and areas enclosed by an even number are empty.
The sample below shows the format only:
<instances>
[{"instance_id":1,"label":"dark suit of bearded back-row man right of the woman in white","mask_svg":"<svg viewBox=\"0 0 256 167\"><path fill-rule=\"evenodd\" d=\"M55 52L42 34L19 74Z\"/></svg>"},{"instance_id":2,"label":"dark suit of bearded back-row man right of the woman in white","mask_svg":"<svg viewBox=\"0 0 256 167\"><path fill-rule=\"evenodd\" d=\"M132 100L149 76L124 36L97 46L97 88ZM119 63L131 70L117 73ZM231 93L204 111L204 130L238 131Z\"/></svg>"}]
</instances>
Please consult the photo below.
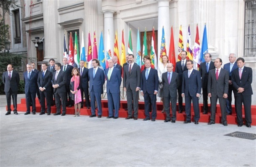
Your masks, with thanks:
<instances>
[{"instance_id":1,"label":"dark suit of bearded back-row man right of the woman in white","mask_svg":"<svg viewBox=\"0 0 256 167\"><path fill-rule=\"evenodd\" d=\"M183 72L188 70L186 63L187 61L184 61L184 68L182 70L182 61L178 61L176 63L175 72L179 74L179 85L178 85L178 103L179 103L179 111L183 111L183 98L182 98L182 77Z\"/></svg>"}]
</instances>

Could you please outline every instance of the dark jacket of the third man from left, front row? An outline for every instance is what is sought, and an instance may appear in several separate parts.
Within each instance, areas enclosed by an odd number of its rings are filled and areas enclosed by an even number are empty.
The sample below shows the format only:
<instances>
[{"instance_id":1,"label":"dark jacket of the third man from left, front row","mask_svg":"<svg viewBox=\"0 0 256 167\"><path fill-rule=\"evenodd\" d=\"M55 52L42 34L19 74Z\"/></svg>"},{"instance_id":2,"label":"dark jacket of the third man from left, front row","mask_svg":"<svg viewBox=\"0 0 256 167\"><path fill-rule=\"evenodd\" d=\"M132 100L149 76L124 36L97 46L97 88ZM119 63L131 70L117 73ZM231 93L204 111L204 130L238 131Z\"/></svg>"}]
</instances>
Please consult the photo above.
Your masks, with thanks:
<instances>
[{"instance_id":1,"label":"dark jacket of the third man from left, front row","mask_svg":"<svg viewBox=\"0 0 256 167\"><path fill-rule=\"evenodd\" d=\"M37 85L38 88L42 87L45 88L44 91L51 92L51 80L52 80L52 73L49 70L46 70L43 78L43 71L40 71L37 77Z\"/></svg>"}]
</instances>

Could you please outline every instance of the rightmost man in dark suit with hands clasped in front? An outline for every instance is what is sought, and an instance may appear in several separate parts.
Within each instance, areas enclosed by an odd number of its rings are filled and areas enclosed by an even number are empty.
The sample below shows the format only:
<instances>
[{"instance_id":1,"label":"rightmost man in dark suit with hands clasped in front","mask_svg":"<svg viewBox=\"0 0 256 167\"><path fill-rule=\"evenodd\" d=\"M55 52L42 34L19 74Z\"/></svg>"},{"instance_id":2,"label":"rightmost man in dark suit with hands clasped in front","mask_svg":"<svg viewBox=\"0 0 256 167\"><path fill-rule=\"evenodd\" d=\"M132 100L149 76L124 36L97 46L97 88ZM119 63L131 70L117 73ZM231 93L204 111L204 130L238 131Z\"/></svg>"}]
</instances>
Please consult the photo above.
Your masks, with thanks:
<instances>
[{"instance_id":1,"label":"rightmost man in dark suit with hands clasped in front","mask_svg":"<svg viewBox=\"0 0 256 167\"><path fill-rule=\"evenodd\" d=\"M232 85L234 87L235 108L238 126L243 125L242 119L242 103L244 106L245 123L247 127L251 127L252 115L252 68L244 66L242 57L236 60L238 68L232 72Z\"/></svg>"}]
</instances>

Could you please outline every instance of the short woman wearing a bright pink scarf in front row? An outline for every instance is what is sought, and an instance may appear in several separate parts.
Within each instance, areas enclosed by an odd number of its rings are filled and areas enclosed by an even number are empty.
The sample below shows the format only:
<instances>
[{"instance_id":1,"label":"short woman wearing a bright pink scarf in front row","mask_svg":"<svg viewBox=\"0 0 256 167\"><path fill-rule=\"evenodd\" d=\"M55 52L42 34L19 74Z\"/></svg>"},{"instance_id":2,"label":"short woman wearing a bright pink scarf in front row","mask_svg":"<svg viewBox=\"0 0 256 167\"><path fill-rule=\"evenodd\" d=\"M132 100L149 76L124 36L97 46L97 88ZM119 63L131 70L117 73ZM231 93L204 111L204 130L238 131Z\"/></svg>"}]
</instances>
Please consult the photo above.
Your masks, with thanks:
<instances>
[{"instance_id":1,"label":"short woman wearing a bright pink scarf in front row","mask_svg":"<svg viewBox=\"0 0 256 167\"><path fill-rule=\"evenodd\" d=\"M74 117L79 117L80 109L81 109L81 101L82 101L82 96L80 91L82 81L81 81L79 69L76 67L73 68L71 75L72 75L72 78L70 80L70 92L71 92L71 98L72 100L74 100L74 110L75 110Z\"/></svg>"}]
</instances>

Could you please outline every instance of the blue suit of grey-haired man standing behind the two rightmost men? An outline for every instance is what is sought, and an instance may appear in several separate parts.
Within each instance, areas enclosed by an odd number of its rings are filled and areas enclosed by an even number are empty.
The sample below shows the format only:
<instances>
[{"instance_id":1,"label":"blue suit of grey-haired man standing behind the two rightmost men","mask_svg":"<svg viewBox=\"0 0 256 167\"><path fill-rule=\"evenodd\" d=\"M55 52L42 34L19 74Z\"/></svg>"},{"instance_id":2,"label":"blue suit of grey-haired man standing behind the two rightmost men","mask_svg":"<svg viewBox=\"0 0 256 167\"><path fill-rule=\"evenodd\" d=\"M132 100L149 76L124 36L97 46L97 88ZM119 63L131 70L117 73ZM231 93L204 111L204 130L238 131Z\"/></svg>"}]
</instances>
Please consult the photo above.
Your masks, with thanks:
<instances>
[{"instance_id":1,"label":"blue suit of grey-haired man standing behind the two rightmost men","mask_svg":"<svg viewBox=\"0 0 256 167\"><path fill-rule=\"evenodd\" d=\"M232 77L232 72L237 69L237 64L236 62L234 62L234 65L232 67L232 69L230 70L230 64L231 63L226 63L223 67L223 69L227 70L229 72L229 80L231 80ZM233 91L233 85L229 85L229 93L228 93L228 98L226 99L226 110L227 110L227 114L231 114L232 113L232 91Z\"/></svg>"}]
</instances>

